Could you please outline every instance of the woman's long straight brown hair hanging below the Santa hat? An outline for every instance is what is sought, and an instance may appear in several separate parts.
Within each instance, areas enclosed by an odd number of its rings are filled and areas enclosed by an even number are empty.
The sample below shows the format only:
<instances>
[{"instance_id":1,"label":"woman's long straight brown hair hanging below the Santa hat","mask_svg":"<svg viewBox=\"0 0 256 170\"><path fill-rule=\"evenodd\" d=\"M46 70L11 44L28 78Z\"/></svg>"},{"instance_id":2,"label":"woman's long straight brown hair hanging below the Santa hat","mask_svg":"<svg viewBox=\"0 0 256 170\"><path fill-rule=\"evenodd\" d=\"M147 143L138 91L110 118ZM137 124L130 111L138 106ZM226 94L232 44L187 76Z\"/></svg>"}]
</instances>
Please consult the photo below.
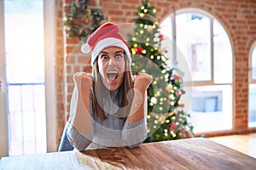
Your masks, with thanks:
<instances>
[{"instance_id":1,"label":"woman's long straight brown hair hanging below the Santa hat","mask_svg":"<svg viewBox=\"0 0 256 170\"><path fill-rule=\"evenodd\" d=\"M106 120L108 117L105 115L102 106L102 94L103 94L103 83L102 79L99 75L99 66L97 59L93 64L92 67L92 76L93 76L93 84L92 84L92 105L94 112L96 116L99 116L102 120ZM133 88L133 80L132 80L132 73L131 73L131 66L130 63L127 59L127 56L125 56L125 73L124 73L124 81L119 87L119 108L124 108L126 107L127 109L125 110L125 116L122 118L126 118L129 114L130 108L131 108L131 99L133 99L133 94L131 96L128 96L129 90ZM129 108L129 109L128 109Z\"/></svg>"}]
</instances>

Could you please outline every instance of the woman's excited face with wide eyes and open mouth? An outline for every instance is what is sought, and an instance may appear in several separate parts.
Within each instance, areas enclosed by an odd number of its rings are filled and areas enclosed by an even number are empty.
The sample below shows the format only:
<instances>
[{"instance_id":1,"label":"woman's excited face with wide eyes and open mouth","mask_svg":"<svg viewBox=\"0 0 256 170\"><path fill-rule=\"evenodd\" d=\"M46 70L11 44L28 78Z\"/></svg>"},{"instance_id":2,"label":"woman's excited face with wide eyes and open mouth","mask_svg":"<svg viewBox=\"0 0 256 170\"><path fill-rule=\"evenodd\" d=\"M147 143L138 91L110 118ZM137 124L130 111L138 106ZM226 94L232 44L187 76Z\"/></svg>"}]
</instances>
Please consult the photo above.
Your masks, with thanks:
<instances>
[{"instance_id":1,"label":"woman's excited face with wide eyes and open mouth","mask_svg":"<svg viewBox=\"0 0 256 170\"><path fill-rule=\"evenodd\" d=\"M109 90L116 90L124 80L125 54L122 48L104 48L97 59L102 82Z\"/></svg>"}]
</instances>

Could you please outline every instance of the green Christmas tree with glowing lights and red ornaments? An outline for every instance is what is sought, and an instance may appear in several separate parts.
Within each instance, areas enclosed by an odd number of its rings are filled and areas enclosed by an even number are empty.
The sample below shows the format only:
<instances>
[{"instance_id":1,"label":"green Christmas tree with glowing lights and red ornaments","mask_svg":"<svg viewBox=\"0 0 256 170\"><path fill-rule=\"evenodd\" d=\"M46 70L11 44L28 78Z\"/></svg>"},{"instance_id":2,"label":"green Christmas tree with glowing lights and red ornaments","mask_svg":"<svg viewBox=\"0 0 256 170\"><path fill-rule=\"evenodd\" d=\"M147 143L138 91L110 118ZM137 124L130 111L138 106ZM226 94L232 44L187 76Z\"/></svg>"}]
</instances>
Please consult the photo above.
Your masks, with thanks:
<instances>
[{"instance_id":1,"label":"green Christmas tree with glowing lights and red ornaments","mask_svg":"<svg viewBox=\"0 0 256 170\"><path fill-rule=\"evenodd\" d=\"M182 74L172 59L166 57L161 48L164 36L159 31L155 17L156 9L148 0L137 8L137 19L133 33L128 34L134 74L147 72L153 77L148 88L148 138L145 142L183 139L193 136L188 122L189 114L180 103L185 93L182 88ZM171 45L171 44L170 44Z\"/></svg>"}]
</instances>

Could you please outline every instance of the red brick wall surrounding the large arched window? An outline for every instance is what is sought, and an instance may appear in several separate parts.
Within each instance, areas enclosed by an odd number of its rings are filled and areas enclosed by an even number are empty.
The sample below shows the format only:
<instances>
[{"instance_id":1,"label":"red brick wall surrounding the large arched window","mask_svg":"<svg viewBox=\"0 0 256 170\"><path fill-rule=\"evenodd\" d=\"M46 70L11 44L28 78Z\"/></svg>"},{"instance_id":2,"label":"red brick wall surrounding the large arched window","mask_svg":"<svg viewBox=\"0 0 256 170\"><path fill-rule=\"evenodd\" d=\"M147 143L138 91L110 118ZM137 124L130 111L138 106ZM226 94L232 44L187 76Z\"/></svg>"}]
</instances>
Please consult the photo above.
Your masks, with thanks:
<instances>
[{"instance_id":1,"label":"red brick wall surrounding the large arched window","mask_svg":"<svg viewBox=\"0 0 256 170\"><path fill-rule=\"evenodd\" d=\"M63 12L67 12L67 4L72 0L56 1L56 89L58 92L58 122L59 135L65 123L65 113L69 111L69 101L73 90L73 73L83 70L83 63L88 58L79 54L70 54L79 43L79 40L67 39L61 32ZM63 8L61 8L63 2ZM248 61L249 51L256 41L256 0L150 0L157 9L159 22L175 10L181 8L200 8L212 14L228 31L234 52L234 113L233 129L225 132L207 133L207 136L250 133L256 129L247 128L248 119ZM104 13L106 20L115 23L131 23L135 19L137 7L141 1L135 0L90 0L89 8L99 8ZM81 64L82 63L82 64ZM72 64L72 65L71 65ZM75 64L75 65L73 65ZM64 71L63 71L64 70ZM61 92L61 77L63 83L63 102ZM61 75L60 75L61 74ZM65 111L64 109L65 108ZM57 138L59 139L60 136Z\"/></svg>"}]
</instances>

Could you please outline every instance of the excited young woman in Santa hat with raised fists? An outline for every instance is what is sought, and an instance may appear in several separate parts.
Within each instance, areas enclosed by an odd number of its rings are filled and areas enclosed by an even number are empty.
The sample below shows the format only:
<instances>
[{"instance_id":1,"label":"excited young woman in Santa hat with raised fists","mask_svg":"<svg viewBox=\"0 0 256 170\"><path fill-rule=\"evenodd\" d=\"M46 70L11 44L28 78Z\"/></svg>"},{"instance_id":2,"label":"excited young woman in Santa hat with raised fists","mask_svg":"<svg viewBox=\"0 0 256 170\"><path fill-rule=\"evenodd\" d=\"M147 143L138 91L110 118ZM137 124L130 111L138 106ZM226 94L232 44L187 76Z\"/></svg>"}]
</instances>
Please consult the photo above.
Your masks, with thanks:
<instances>
[{"instance_id":1,"label":"excited young woman in Santa hat with raised fists","mask_svg":"<svg viewBox=\"0 0 256 170\"><path fill-rule=\"evenodd\" d=\"M73 76L67 139L77 150L142 144L152 77L132 77L130 50L113 23L98 28L81 50L91 52L92 74Z\"/></svg>"}]
</instances>

